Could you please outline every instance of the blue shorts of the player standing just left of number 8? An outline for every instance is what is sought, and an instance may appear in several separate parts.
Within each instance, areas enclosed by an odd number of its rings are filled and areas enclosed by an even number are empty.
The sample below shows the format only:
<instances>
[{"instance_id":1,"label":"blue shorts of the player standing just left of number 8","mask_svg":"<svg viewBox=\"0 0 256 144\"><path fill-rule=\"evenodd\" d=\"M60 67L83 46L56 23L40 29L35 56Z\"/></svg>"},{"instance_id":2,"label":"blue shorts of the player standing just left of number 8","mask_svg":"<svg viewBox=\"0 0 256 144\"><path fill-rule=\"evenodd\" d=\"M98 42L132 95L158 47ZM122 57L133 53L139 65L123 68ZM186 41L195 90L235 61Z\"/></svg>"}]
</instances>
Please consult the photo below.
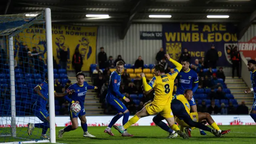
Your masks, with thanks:
<instances>
[{"instance_id":1,"label":"blue shorts of the player standing just left of number 8","mask_svg":"<svg viewBox=\"0 0 256 144\"><path fill-rule=\"evenodd\" d=\"M124 113L127 110L126 106L118 98L111 98L111 96L108 95L109 94L106 96L106 102L115 108L118 113Z\"/></svg>"}]
</instances>

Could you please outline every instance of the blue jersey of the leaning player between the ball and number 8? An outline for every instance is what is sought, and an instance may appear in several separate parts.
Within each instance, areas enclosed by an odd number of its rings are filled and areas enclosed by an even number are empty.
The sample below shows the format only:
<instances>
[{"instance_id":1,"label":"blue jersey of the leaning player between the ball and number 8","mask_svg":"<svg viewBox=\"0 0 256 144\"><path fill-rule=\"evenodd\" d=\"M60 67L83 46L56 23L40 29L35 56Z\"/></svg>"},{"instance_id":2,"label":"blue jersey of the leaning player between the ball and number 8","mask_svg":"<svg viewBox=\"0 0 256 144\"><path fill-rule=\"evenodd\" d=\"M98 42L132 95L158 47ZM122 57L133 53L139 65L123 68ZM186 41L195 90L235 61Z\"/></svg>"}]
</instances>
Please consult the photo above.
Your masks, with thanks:
<instances>
[{"instance_id":1,"label":"blue jersey of the leaning player between the ball and number 8","mask_svg":"<svg viewBox=\"0 0 256 144\"><path fill-rule=\"evenodd\" d=\"M120 84L121 75L118 74L116 71L112 72L109 79L107 96L110 96L112 98L123 98L124 95L119 92Z\"/></svg>"}]
</instances>

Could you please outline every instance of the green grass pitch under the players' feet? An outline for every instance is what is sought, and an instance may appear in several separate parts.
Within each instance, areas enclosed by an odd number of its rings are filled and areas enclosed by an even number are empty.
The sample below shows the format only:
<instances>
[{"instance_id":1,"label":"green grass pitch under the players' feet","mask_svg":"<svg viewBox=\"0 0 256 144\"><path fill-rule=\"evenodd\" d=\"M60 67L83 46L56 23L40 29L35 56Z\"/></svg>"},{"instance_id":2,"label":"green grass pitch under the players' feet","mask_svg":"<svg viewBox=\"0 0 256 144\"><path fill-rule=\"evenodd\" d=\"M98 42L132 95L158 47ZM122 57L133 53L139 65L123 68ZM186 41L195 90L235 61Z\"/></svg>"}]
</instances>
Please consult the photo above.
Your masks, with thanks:
<instances>
[{"instance_id":1,"label":"green grass pitch under the players' feet","mask_svg":"<svg viewBox=\"0 0 256 144\"><path fill-rule=\"evenodd\" d=\"M167 132L157 126L132 126L128 129L133 137L122 137L117 130L112 128L114 136L104 133L105 127L88 127L88 132L96 138L84 138L82 128L66 132L63 138L58 138L58 131L62 127L56 127L56 142L64 144L256 144L256 126L220 126L220 129L231 129L229 134L217 138L206 132L207 136L201 136L198 129L192 131L192 138L184 140L179 136L167 139ZM22 138L36 139L40 137L42 129L35 128L31 137L27 134L27 128L17 128L18 136ZM18 139L20 141L21 139ZM25 140L25 139L24 139ZM14 141L12 138L0 138L0 142ZM17 140L16 140L17 141ZM38 142L39 144L39 142Z\"/></svg>"}]
</instances>

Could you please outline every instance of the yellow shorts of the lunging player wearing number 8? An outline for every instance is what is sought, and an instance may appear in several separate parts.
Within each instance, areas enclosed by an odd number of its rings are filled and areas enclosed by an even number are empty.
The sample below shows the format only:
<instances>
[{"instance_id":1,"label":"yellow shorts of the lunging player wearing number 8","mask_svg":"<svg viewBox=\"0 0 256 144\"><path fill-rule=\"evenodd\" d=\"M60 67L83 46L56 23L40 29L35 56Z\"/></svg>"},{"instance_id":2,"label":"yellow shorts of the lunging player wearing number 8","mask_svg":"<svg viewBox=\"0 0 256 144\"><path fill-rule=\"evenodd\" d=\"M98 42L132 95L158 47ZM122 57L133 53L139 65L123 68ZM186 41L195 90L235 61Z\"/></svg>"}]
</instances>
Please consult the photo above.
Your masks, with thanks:
<instances>
[{"instance_id":1,"label":"yellow shorts of the lunging player wearing number 8","mask_svg":"<svg viewBox=\"0 0 256 144\"><path fill-rule=\"evenodd\" d=\"M146 105L146 110L148 114L153 115L153 114L158 114L160 112L161 116L164 118L172 118L172 110L170 105L166 106L156 106L156 104L147 104Z\"/></svg>"}]
</instances>

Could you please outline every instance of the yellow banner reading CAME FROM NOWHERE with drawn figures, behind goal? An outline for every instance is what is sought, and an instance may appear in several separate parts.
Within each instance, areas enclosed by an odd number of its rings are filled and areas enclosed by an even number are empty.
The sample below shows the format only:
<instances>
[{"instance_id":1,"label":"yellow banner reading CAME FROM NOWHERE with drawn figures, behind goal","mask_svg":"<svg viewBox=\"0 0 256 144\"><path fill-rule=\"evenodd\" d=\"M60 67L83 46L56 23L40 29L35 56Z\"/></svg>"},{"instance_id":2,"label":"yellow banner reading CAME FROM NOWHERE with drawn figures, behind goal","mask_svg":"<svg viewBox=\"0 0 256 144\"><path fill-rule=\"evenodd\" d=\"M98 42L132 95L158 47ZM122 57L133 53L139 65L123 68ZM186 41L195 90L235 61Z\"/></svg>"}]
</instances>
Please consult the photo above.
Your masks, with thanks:
<instances>
[{"instance_id":1,"label":"yellow banner reading CAME FROM NOWHERE with drawn figures, behind goal","mask_svg":"<svg viewBox=\"0 0 256 144\"><path fill-rule=\"evenodd\" d=\"M60 50L65 50L68 52L67 70L74 70L72 57L78 48L84 62L82 71L89 71L90 64L96 63L97 30L98 27L52 25L52 51L57 63L60 60ZM18 52L21 52L21 47L25 45L30 51L32 51L32 47L36 47L38 52L43 52L44 62L46 62L47 49L44 26L33 25L15 37L14 56L16 60Z\"/></svg>"}]
</instances>

